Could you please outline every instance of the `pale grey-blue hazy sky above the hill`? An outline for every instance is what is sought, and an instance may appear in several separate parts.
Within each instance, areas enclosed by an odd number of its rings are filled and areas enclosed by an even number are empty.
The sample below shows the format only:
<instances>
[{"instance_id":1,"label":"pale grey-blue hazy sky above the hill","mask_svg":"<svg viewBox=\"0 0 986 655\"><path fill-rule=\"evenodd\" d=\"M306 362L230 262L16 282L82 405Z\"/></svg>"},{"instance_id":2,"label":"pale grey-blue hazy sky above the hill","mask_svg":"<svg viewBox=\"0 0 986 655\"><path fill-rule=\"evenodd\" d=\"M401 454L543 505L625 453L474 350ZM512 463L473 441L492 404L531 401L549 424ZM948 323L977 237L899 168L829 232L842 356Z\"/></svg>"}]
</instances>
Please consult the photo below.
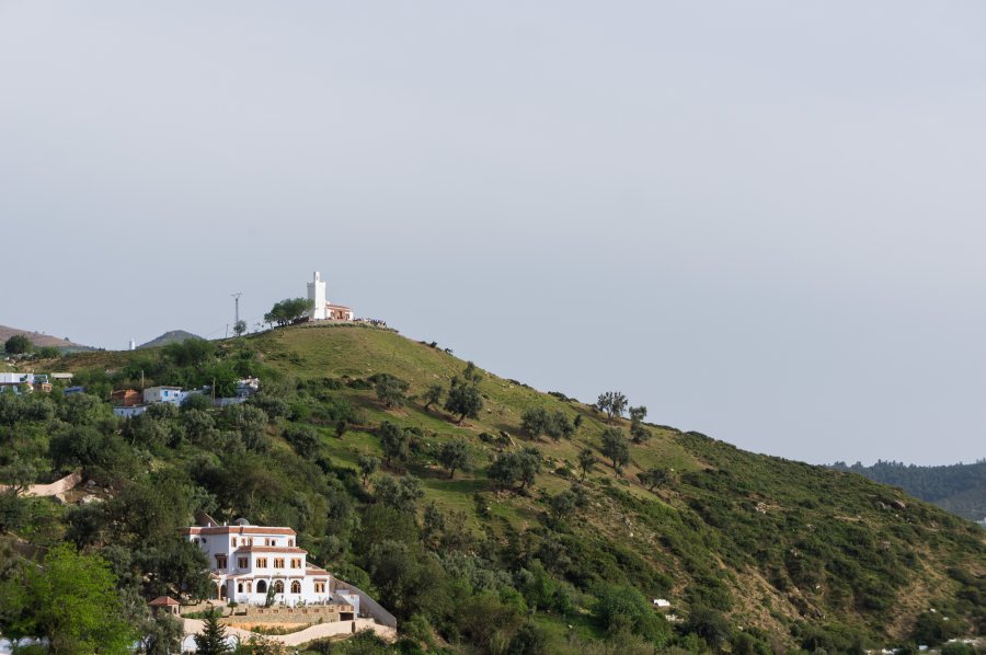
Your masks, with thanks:
<instances>
[{"instance_id":1,"label":"pale grey-blue hazy sky above the hill","mask_svg":"<svg viewBox=\"0 0 986 655\"><path fill-rule=\"evenodd\" d=\"M0 0L0 324L332 301L813 463L986 457L982 2Z\"/></svg>"}]
</instances>

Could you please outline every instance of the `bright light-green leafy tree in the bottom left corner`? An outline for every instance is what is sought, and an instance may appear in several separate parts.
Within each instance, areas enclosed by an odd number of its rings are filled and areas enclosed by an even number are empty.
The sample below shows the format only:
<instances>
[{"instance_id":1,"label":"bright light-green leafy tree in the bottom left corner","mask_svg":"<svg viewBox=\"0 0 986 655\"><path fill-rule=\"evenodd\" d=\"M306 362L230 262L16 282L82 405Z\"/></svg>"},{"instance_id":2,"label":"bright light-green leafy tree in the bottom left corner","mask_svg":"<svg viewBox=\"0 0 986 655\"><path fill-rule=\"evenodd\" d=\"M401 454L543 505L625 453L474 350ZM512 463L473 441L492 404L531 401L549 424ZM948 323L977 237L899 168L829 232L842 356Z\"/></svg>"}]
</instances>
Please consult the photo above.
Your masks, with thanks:
<instances>
[{"instance_id":1,"label":"bright light-green leafy tree in the bottom left corner","mask_svg":"<svg viewBox=\"0 0 986 655\"><path fill-rule=\"evenodd\" d=\"M116 576L99 555L58 545L41 566L23 565L0 584L0 630L42 637L48 652L127 653L137 634L123 616Z\"/></svg>"}]
</instances>

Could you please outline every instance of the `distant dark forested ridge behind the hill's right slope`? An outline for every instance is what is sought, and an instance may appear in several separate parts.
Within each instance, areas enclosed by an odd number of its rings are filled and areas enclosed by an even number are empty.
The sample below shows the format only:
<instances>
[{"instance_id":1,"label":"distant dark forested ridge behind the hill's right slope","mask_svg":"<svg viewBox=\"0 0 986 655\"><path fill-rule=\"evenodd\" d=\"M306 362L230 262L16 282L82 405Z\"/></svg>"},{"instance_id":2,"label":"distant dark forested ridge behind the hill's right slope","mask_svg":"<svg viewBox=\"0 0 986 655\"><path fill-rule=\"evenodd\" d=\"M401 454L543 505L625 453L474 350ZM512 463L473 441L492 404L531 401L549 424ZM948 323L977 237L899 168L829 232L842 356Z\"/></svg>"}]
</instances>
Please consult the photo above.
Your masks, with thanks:
<instances>
[{"instance_id":1,"label":"distant dark forested ridge behind the hill's right slope","mask_svg":"<svg viewBox=\"0 0 986 655\"><path fill-rule=\"evenodd\" d=\"M970 520L986 518L986 459L973 464L918 467L895 461L835 462L833 469L859 473L874 482L899 486L908 494L935 503L942 509Z\"/></svg>"}]
</instances>

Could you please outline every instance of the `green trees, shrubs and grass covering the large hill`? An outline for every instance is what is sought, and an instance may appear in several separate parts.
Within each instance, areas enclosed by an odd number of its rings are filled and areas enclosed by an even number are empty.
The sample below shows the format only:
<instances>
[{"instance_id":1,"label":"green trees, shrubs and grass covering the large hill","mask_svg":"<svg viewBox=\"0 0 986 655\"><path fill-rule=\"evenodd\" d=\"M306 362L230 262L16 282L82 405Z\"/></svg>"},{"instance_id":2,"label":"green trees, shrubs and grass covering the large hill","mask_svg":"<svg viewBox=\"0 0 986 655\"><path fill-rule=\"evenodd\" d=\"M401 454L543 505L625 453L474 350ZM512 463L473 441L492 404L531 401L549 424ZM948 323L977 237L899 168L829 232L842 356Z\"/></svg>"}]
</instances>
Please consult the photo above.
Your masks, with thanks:
<instances>
[{"instance_id":1,"label":"green trees, shrubs and grass covering the large hill","mask_svg":"<svg viewBox=\"0 0 986 655\"><path fill-rule=\"evenodd\" d=\"M128 599L208 595L177 537L203 510L293 526L313 562L398 617L397 646L360 635L311 652L834 653L986 618L976 526L859 475L645 423L619 392L585 405L392 331L312 324L59 366L85 394L0 394L0 483L81 469L98 497L0 494L0 584L23 587L50 553L98 559L111 625L153 632ZM110 391L141 376L257 376L261 392L114 417ZM0 607L31 607L18 602ZM14 613L0 630L41 633Z\"/></svg>"}]
</instances>

